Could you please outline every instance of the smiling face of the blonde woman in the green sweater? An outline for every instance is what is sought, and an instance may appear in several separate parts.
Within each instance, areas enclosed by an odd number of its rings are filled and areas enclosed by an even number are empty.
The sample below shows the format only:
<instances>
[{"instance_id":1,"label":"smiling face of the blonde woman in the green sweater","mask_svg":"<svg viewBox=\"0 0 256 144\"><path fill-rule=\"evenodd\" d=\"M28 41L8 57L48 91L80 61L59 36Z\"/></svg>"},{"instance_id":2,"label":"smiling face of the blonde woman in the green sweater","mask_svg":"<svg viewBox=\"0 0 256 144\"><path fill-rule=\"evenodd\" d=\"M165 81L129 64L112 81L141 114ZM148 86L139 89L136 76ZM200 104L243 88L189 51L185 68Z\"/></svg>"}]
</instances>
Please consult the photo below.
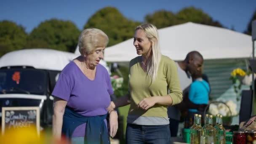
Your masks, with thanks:
<instances>
[{"instance_id":1,"label":"smiling face of the blonde woman in the green sweater","mask_svg":"<svg viewBox=\"0 0 256 144\"><path fill-rule=\"evenodd\" d=\"M146 55L151 50L151 43L145 32L141 29L135 31L133 45L135 46L138 55Z\"/></svg>"}]
</instances>

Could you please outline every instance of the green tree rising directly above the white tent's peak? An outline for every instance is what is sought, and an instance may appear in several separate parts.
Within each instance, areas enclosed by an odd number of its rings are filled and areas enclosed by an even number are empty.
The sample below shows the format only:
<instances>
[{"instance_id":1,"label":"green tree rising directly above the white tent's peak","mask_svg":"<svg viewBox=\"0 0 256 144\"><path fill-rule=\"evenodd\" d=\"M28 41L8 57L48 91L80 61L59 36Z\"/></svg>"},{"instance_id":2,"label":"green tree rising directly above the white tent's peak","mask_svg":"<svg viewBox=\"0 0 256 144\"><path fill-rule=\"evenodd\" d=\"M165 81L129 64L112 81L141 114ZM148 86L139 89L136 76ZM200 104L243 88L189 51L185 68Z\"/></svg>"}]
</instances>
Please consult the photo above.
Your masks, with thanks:
<instances>
[{"instance_id":1,"label":"green tree rising directly above the white tent's peak","mask_svg":"<svg viewBox=\"0 0 256 144\"><path fill-rule=\"evenodd\" d=\"M204 13L201 9L195 7L184 8L176 14L177 19L181 23L194 22L198 24L206 24L215 27L223 27L219 21L214 21L211 16Z\"/></svg>"}]
</instances>

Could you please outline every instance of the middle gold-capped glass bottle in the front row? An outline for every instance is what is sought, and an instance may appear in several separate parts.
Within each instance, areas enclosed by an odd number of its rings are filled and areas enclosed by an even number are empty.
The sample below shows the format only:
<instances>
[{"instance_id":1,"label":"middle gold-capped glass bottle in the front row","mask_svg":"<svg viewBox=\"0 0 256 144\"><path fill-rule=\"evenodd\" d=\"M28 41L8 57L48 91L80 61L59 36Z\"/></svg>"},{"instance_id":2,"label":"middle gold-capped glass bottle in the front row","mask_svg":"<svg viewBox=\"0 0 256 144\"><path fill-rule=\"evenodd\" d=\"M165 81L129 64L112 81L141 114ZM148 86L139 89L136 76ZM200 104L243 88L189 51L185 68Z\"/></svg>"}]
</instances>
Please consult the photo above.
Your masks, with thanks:
<instances>
[{"instance_id":1,"label":"middle gold-capped glass bottle in the front row","mask_svg":"<svg viewBox=\"0 0 256 144\"><path fill-rule=\"evenodd\" d=\"M209 115L209 124L204 131L205 144L216 144L216 129L213 127L213 116Z\"/></svg>"}]
</instances>

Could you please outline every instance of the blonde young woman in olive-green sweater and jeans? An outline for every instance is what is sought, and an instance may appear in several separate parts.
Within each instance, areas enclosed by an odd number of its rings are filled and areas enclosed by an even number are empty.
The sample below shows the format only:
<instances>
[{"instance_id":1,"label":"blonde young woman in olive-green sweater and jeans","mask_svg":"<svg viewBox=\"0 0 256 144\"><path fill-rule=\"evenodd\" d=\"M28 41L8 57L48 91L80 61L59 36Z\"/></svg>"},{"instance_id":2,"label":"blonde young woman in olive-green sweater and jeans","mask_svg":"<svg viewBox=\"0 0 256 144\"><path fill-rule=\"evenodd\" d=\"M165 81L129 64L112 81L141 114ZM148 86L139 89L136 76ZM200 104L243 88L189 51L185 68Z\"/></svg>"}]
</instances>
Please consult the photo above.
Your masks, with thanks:
<instances>
[{"instance_id":1,"label":"blonde young woman in olive-green sweater and jeans","mask_svg":"<svg viewBox=\"0 0 256 144\"><path fill-rule=\"evenodd\" d=\"M152 24L136 27L133 45L141 56L130 61L129 93L112 102L112 108L131 104L127 144L170 144L167 107L182 101L176 64L161 54Z\"/></svg>"}]
</instances>

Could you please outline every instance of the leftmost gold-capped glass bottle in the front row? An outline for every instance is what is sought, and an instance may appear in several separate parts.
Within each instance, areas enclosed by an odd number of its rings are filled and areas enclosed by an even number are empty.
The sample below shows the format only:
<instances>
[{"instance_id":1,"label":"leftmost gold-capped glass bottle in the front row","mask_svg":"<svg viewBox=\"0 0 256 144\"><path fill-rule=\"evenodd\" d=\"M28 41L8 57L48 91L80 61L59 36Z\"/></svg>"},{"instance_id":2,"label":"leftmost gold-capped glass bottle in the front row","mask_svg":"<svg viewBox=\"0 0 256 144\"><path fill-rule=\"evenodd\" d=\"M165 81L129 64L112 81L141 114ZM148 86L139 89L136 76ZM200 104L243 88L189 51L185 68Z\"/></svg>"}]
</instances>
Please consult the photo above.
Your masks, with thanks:
<instances>
[{"instance_id":1,"label":"leftmost gold-capped glass bottle in the front row","mask_svg":"<svg viewBox=\"0 0 256 144\"><path fill-rule=\"evenodd\" d=\"M196 118L196 125L192 131L192 141L191 144L204 144L204 137L203 137L203 128L201 126L201 117L202 115L198 115Z\"/></svg>"}]
</instances>

